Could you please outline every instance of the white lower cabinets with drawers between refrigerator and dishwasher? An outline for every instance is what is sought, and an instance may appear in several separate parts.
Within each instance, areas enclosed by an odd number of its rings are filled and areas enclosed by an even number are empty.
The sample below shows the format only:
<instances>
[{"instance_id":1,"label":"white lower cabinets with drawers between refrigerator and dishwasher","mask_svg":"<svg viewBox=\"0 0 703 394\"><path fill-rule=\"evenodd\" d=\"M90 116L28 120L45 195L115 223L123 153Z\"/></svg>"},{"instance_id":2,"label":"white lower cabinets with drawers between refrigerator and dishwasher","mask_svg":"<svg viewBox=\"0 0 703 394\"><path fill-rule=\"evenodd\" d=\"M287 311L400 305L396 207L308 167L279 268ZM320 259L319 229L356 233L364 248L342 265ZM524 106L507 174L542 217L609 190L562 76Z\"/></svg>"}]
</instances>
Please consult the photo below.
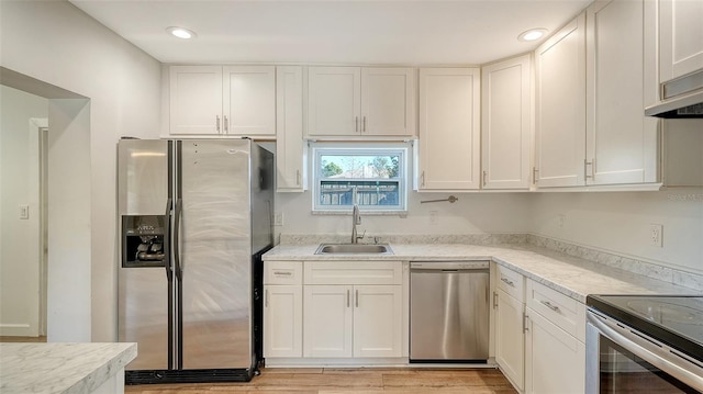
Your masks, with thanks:
<instances>
[{"instance_id":1,"label":"white lower cabinets with drawers between refrigerator and dishwasher","mask_svg":"<svg viewBox=\"0 0 703 394\"><path fill-rule=\"evenodd\" d=\"M408 357L402 261L271 261L264 274L267 364ZM405 345L404 345L405 344ZM391 361L388 361L391 360Z\"/></svg>"}]
</instances>

